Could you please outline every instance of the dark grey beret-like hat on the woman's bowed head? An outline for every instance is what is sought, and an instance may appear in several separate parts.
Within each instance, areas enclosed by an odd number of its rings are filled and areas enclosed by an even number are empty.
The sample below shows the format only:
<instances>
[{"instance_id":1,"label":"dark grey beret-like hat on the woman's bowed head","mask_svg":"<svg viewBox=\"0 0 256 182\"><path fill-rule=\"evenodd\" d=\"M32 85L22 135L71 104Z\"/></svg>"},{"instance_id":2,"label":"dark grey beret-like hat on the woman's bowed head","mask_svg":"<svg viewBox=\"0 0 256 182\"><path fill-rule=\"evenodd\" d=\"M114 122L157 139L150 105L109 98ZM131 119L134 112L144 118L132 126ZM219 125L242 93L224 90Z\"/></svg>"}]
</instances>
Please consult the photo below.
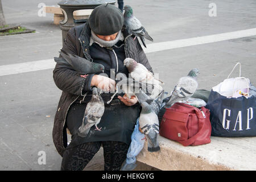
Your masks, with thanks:
<instances>
[{"instance_id":1,"label":"dark grey beret-like hat on the woman's bowed head","mask_svg":"<svg viewBox=\"0 0 256 182\"><path fill-rule=\"evenodd\" d=\"M97 6L89 16L89 26L95 34L112 35L122 29L123 14L110 4Z\"/></svg>"}]
</instances>

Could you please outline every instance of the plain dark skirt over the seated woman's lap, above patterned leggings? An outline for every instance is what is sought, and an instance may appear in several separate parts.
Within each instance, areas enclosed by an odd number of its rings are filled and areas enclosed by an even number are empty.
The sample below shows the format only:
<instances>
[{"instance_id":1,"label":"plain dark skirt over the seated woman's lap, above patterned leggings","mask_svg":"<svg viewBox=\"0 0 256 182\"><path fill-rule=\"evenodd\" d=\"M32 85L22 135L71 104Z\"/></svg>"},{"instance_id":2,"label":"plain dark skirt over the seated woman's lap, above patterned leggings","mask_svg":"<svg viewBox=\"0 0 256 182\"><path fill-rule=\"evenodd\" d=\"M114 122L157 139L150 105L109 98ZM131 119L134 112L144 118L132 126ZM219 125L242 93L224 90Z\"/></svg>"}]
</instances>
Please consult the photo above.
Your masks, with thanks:
<instances>
[{"instance_id":1,"label":"plain dark skirt over the seated woman's lap, above patterned leggings","mask_svg":"<svg viewBox=\"0 0 256 182\"><path fill-rule=\"evenodd\" d=\"M82 102L80 102L82 98L79 98L72 104L67 115L67 127L72 134L72 141L68 148L85 142L98 141L119 141L130 145L131 134L139 117L141 106L138 103L133 106L126 106L117 97L114 97L110 104L106 104L110 100L110 96L110 94L102 94L105 111L97 125L101 131L95 130L96 127L92 126L86 137L80 137L77 135L77 131L82 125L86 105L92 96L86 96Z\"/></svg>"}]
</instances>

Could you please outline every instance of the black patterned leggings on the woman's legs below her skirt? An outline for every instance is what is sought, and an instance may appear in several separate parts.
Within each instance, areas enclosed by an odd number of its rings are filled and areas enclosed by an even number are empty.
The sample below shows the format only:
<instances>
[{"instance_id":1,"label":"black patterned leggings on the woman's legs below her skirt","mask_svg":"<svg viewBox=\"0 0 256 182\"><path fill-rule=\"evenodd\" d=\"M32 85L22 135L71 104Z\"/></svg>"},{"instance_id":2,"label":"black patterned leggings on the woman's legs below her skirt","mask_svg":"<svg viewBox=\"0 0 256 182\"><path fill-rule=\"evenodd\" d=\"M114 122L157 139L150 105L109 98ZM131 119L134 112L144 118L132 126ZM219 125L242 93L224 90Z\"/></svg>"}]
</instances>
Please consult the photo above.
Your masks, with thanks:
<instances>
[{"instance_id":1,"label":"black patterned leggings on the woman's legs below her skirt","mask_svg":"<svg viewBox=\"0 0 256 182\"><path fill-rule=\"evenodd\" d=\"M129 145L117 141L87 142L64 151L61 171L82 171L100 150L101 143L104 150L105 171L119 171L126 159Z\"/></svg>"}]
</instances>

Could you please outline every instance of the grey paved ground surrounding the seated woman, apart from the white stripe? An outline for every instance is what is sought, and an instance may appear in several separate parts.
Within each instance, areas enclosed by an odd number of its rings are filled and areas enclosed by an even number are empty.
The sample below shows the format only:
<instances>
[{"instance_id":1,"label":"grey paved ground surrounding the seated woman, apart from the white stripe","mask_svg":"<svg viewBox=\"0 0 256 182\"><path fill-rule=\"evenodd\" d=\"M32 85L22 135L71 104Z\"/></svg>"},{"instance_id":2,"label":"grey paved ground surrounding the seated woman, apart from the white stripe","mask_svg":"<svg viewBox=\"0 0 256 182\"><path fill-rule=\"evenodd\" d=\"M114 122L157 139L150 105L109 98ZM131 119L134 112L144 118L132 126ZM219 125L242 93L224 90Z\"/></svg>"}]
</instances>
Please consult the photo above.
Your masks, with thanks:
<instances>
[{"instance_id":1,"label":"grey paved ground surrounding the seated woman, apart from the white stripe","mask_svg":"<svg viewBox=\"0 0 256 182\"><path fill-rule=\"evenodd\" d=\"M46 5L59 1L45 0ZM42 1L2 0L7 23L21 23L36 33L1 36L0 67L52 59L62 46L53 15L38 16ZM256 2L213 1L217 16L209 16L209 1L129 1L154 43L256 28ZM126 4L126 1L125 1ZM254 36L147 53L148 60L170 92L179 77L199 68L199 88L210 89L226 78L234 64L256 85ZM146 42L151 44L151 42ZM15 67L15 65L14 65ZM234 72L237 76L238 72ZM0 76L0 169L59 170L61 157L52 142L52 126L60 90L52 69ZM40 151L46 164L39 164ZM102 169L102 150L86 169Z\"/></svg>"}]
</instances>

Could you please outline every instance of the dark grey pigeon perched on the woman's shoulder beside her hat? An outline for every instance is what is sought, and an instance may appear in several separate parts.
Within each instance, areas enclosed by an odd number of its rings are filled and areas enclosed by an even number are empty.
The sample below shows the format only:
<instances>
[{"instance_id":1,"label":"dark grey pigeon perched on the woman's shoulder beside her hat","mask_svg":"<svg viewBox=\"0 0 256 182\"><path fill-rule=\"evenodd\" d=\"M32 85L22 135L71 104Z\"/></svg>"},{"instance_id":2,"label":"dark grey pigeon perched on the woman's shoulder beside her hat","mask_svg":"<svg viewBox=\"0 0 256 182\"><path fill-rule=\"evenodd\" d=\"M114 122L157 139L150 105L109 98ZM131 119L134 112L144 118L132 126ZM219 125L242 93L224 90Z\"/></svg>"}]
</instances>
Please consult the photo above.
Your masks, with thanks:
<instances>
[{"instance_id":1,"label":"dark grey pigeon perched on the woman's shoulder beside her hat","mask_svg":"<svg viewBox=\"0 0 256 182\"><path fill-rule=\"evenodd\" d=\"M138 36L141 39L141 42L143 43L144 47L146 47L144 38L153 41L151 36L148 35L148 32L142 26L141 22L134 16L133 9L131 8L131 6L125 6L125 13L123 14L123 18L125 18L126 26L130 28L133 35L135 35L135 38Z\"/></svg>"}]
</instances>

